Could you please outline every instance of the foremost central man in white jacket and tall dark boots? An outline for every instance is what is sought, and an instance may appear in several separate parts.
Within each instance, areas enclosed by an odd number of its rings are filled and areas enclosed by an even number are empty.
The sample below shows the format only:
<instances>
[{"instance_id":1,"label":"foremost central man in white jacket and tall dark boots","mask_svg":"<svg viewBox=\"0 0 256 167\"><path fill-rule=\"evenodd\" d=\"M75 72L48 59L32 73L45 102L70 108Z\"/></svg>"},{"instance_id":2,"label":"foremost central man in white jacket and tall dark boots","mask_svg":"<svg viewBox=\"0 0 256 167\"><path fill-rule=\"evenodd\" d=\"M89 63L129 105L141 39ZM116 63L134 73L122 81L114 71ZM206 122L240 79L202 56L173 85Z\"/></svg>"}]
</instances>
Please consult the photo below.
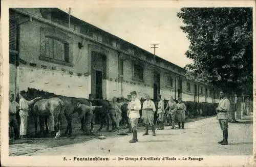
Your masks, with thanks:
<instances>
[{"instance_id":1,"label":"foremost central man in white jacket and tall dark boots","mask_svg":"<svg viewBox=\"0 0 256 167\"><path fill-rule=\"evenodd\" d=\"M137 124L138 119L140 118L140 109L141 104L140 100L137 98L137 93L135 91L131 92L132 95L132 101L129 103L129 119L131 122L132 130L133 130L133 139L130 141L130 143L136 143L138 142L137 138Z\"/></svg>"}]
</instances>

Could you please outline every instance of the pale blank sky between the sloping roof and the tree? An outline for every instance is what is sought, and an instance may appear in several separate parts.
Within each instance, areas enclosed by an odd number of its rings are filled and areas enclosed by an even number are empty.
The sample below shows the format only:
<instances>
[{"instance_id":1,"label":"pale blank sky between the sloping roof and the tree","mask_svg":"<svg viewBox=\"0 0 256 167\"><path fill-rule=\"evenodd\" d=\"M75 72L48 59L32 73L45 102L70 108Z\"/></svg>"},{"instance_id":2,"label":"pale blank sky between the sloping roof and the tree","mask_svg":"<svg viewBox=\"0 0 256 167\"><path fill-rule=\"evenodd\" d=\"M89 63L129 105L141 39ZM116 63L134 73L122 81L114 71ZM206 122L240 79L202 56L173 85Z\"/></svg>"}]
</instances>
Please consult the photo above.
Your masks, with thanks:
<instances>
[{"instance_id":1,"label":"pale blank sky between the sloping roof and the tree","mask_svg":"<svg viewBox=\"0 0 256 167\"><path fill-rule=\"evenodd\" d=\"M67 9L61 9L67 12ZM179 8L82 8L73 7L72 15L125 41L154 53L180 67L192 62L185 56L189 41L177 17Z\"/></svg>"}]
</instances>

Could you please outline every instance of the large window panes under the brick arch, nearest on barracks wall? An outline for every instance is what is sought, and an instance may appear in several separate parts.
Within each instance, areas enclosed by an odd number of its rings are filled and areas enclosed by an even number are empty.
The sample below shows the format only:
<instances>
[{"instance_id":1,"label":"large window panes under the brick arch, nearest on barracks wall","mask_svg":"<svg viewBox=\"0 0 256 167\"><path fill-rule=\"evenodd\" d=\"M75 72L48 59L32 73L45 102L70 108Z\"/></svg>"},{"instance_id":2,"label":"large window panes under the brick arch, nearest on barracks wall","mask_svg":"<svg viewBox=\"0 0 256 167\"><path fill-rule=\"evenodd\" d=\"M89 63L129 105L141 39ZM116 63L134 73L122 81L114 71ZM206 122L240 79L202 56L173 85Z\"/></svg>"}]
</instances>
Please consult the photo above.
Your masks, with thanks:
<instances>
[{"instance_id":1,"label":"large window panes under the brick arch, nearest on barracks wall","mask_svg":"<svg viewBox=\"0 0 256 167\"><path fill-rule=\"evenodd\" d=\"M69 62L68 44L56 39L46 37L46 54L45 57Z\"/></svg>"}]
</instances>

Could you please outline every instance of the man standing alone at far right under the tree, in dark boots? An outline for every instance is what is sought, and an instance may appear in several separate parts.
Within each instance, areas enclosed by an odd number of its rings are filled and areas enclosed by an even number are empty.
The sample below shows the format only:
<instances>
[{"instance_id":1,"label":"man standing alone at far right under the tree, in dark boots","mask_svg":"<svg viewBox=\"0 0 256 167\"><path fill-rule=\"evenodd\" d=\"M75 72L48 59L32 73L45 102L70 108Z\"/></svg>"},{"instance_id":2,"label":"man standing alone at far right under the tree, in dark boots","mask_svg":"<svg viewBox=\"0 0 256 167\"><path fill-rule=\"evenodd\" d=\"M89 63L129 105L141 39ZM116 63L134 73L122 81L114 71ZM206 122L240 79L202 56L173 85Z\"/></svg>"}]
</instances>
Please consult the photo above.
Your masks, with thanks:
<instances>
[{"instance_id":1,"label":"man standing alone at far right under the tree, in dark boots","mask_svg":"<svg viewBox=\"0 0 256 167\"><path fill-rule=\"evenodd\" d=\"M219 124L221 127L221 130L223 132L223 140L218 142L221 145L227 145L227 138L228 138L228 115L227 112L230 107L230 101L227 99L226 92L221 91L220 92L220 97L221 100L219 102L218 107L216 108L216 111L218 112L217 114L217 119L219 120Z\"/></svg>"}]
</instances>

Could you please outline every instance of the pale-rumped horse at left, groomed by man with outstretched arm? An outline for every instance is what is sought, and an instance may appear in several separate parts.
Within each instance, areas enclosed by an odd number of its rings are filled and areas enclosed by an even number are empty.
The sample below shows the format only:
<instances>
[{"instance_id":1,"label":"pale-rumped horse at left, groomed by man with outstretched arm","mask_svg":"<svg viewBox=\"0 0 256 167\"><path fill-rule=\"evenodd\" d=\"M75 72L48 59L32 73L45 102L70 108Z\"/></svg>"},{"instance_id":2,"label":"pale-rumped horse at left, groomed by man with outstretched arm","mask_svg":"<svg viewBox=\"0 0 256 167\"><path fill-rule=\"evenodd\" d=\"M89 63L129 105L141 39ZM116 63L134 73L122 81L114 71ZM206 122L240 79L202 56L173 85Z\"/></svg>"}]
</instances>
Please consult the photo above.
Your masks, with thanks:
<instances>
[{"instance_id":1,"label":"pale-rumped horse at left, groomed by man with outstretched arm","mask_svg":"<svg viewBox=\"0 0 256 167\"><path fill-rule=\"evenodd\" d=\"M65 110L65 105L62 100L59 98L53 97L49 99L41 99L37 101L33 106L33 114L35 120L39 117L40 122L40 131L44 129L42 118L47 119L50 117L52 126L55 126L55 138L60 136L61 129L61 114ZM46 124L46 129L48 130L48 126ZM37 133L37 121L35 121L35 130ZM53 129L52 129L53 130Z\"/></svg>"}]
</instances>

